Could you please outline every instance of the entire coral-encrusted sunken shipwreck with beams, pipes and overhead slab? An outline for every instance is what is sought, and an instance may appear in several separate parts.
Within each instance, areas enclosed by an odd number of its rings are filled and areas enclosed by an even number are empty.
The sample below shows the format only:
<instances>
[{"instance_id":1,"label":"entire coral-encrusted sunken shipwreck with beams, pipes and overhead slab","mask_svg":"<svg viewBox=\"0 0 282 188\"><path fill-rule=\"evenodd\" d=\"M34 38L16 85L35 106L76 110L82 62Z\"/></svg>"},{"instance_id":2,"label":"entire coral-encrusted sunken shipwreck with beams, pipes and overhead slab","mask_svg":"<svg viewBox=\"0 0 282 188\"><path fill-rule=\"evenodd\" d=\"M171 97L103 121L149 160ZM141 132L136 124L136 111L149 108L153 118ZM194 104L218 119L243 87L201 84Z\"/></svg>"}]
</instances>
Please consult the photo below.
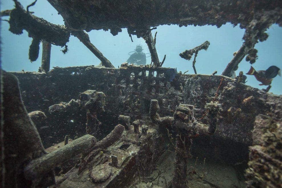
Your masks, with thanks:
<instances>
[{"instance_id":1,"label":"entire coral-encrusted sunken shipwreck with beams, pipes and overhead slab","mask_svg":"<svg viewBox=\"0 0 282 188\"><path fill-rule=\"evenodd\" d=\"M282 97L247 86L240 76L230 78L245 56L255 62L254 46L267 39L265 30L274 23L281 26L281 1L48 0L65 26L29 12L36 1L27 9L14 1L15 9L1 16L10 16L14 34L29 32L31 61L37 59L41 41L44 58L39 72L1 70L1 187L129 187L141 181L153 187L166 172L157 162L168 143L174 173L166 187L188 187L187 177L193 175L217 186L199 175L196 163L188 167L193 151L248 164L240 171L247 187L281 186ZM222 75L196 74L194 69L195 74L180 72L167 82L165 58L159 60L151 30L161 24L220 27L226 22L240 24L246 32ZM104 29L116 35L121 28L144 38L151 64L115 68L86 33ZM65 46L70 34L104 67L49 70L50 44ZM194 65L198 51L208 45L206 41L180 56L190 60L194 54ZM146 179L156 169L157 177Z\"/></svg>"}]
</instances>

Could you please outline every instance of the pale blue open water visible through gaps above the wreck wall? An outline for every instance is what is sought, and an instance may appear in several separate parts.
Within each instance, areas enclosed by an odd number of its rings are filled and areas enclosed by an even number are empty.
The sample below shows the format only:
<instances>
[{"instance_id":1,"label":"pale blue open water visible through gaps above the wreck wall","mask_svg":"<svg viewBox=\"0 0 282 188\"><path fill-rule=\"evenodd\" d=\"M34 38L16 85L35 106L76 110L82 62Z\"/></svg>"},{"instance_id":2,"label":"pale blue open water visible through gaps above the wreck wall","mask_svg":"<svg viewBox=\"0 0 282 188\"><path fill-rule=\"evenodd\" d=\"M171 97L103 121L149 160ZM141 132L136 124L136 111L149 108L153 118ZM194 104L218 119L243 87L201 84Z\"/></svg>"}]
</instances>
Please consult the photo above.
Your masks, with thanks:
<instances>
[{"instance_id":1,"label":"pale blue open water visible through gaps above the wreck wall","mask_svg":"<svg viewBox=\"0 0 282 188\"><path fill-rule=\"evenodd\" d=\"M33 1L20 1L23 7L31 4ZM1 1L1 10L13 9L13 1ZM30 11L35 12L34 15L42 17L53 24L64 24L63 19L58 15L57 11L48 3L48 1L38 1L35 6L29 8ZM3 17L3 19L9 19ZM186 74L194 74L192 68L192 60L187 61L179 56L179 53L186 49L192 49L204 41L210 41L210 46L207 51L200 51L196 58L196 70L198 74L212 74L217 70L218 75L222 73L226 65L233 57L233 53L237 51L242 43L244 30L239 26L233 27L232 24L223 25L220 28L216 26L188 26L179 28L177 25L158 26L152 31L152 34L157 33L156 49L160 61L166 55L164 67L177 67L178 72L185 72ZM264 42L256 44L255 48L258 50L258 59L253 64L256 70L266 70L269 66L275 65L282 68L282 28L277 25L271 26L267 33L269 37ZM132 36L131 42L127 30L123 29L121 33L116 36L110 34L109 31L103 30L91 31L88 33L91 42L109 59L109 61L117 68L121 63L125 62L129 55L128 52L133 51L136 45L141 44L144 53L149 53L149 49L142 38ZM38 71L41 64L40 50L39 58L31 63L28 59L29 46L31 38L28 37L26 31L22 35L15 35L9 32L8 22L1 22L1 41L2 41L2 68L6 71ZM53 66L81 66L81 65L97 65L100 60L90 52L76 37L71 36L67 43L69 52L63 54L62 48L52 46L51 50L51 68ZM42 46L40 45L42 49ZM150 57L147 57L147 62L150 63ZM240 63L239 71L246 73L250 68L249 62L245 59ZM272 88L270 92L275 94L282 94L280 87L282 78L277 76L272 81ZM259 86L259 82L253 77L247 77L247 85L257 87L259 89L266 88L266 86Z\"/></svg>"}]
</instances>

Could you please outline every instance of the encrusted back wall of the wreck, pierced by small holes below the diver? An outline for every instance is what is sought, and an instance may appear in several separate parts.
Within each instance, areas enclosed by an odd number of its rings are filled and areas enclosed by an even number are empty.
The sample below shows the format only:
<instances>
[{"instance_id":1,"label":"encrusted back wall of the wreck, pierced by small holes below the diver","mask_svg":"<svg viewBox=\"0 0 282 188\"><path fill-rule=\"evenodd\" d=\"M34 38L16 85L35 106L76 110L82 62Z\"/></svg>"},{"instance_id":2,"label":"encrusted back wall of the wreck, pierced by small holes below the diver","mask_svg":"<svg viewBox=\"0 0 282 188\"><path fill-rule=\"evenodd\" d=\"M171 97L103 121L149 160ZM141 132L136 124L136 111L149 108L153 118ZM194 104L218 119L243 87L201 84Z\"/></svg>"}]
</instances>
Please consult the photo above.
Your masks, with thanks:
<instances>
[{"instance_id":1,"label":"encrusted back wall of the wreck, pierced by small holes below the diver","mask_svg":"<svg viewBox=\"0 0 282 188\"><path fill-rule=\"evenodd\" d=\"M99 112L98 119L101 118L109 130L120 114L130 116L131 121L148 118L151 99L158 100L160 116L173 116L176 106L181 103L192 104L196 120L208 124L209 117L203 115L206 112L204 106L215 100L221 104L222 110L213 137L251 145L255 116L270 113L271 106L267 101L272 100L272 95L225 76L177 74L172 82L166 82L166 71L167 68L149 66L122 66L120 69L80 66L57 67L47 74L13 74L19 79L27 111L45 112L45 126L60 127L52 137L61 140L66 134L80 136L85 133L86 110L73 109L56 116L49 114L48 107L79 99L80 93L92 89L106 95L105 112ZM215 99L216 93L218 96ZM40 127L38 129L40 132ZM41 129L46 134L46 129ZM49 132L54 131L51 129Z\"/></svg>"}]
</instances>

